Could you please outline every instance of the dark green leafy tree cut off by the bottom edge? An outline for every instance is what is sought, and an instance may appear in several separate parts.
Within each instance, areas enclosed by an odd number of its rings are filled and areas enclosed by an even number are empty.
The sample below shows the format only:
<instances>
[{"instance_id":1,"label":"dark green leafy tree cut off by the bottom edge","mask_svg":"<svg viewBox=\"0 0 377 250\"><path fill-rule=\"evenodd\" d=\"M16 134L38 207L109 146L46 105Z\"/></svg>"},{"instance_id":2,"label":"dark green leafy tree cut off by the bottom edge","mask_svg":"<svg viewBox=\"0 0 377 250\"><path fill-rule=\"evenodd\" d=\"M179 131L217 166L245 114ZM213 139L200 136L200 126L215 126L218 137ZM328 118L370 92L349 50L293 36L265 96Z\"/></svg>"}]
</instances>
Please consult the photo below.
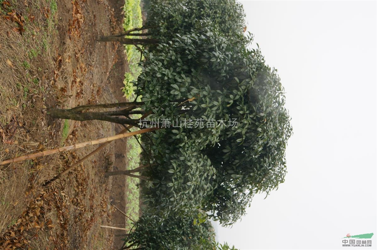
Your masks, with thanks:
<instances>
[{"instance_id":1,"label":"dark green leafy tree cut off by the bottom edge","mask_svg":"<svg viewBox=\"0 0 377 250\"><path fill-rule=\"evenodd\" d=\"M226 243L221 245L215 241L215 232L208 220L197 221L179 215L162 218L144 210L124 239L122 249L236 250L234 246L230 248Z\"/></svg>"}]
</instances>

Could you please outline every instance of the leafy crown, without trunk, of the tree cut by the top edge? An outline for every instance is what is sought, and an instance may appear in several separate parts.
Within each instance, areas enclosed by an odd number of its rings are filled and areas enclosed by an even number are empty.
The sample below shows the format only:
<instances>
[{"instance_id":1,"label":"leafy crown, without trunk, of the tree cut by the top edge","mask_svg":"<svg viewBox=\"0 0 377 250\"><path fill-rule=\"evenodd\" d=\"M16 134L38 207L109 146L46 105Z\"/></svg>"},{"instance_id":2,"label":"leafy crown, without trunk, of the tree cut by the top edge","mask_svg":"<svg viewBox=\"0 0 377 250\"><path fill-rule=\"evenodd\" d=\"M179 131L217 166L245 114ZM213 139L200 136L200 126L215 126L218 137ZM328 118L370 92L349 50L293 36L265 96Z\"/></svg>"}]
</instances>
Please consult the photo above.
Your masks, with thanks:
<instances>
[{"instance_id":1,"label":"leafy crown, without trunk, of the tree cut by the top edge","mask_svg":"<svg viewBox=\"0 0 377 250\"><path fill-rule=\"evenodd\" d=\"M175 34L190 34L195 20L211 20L226 37L242 35L245 26L244 10L235 0L153 0L148 10L146 26L153 38L169 42Z\"/></svg>"}]
</instances>

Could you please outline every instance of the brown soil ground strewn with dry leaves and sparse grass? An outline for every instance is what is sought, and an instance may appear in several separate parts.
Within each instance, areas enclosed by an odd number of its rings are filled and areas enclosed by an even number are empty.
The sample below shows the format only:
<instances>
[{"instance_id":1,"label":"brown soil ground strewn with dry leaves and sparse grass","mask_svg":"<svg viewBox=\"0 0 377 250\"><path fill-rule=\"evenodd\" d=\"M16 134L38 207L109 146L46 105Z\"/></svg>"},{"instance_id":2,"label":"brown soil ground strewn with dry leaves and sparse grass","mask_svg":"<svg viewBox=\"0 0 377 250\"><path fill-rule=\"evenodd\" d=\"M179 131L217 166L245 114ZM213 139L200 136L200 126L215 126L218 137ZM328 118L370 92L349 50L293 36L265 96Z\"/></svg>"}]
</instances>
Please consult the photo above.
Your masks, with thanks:
<instances>
[{"instance_id":1,"label":"brown soil ground strewn with dry leaves and sparse grass","mask_svg":"<svg viewBox=\"0 0 377 250\"><path fill-rule=\"evenodd\" d=\"M100 121L52 120L47 110L124 99L123 46L96 41L121 30L123 4L0 0L0 162L122 129ZM114 166L127 168L125 144L110 144L44 188L41 183L97 147L1 166L0 249L118 249L123 232L100 225L129 223L110 205L126 209L124 177L104 177Z\"/></svg>"}]
</instances>

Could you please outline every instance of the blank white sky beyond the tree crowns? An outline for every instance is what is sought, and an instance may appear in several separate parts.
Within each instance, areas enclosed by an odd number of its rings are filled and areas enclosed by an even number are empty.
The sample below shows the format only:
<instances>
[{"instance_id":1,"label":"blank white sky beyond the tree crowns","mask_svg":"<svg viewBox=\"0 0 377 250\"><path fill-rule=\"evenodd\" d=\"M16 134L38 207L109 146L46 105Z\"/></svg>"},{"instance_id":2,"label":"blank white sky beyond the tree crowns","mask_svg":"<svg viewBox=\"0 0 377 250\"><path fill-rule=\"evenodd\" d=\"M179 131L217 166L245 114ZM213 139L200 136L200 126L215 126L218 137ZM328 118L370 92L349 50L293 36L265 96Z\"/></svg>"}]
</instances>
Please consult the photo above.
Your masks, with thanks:
<instances>
[{"instance_id":1,"label":"blank white sky beyond the tree crowns","mask_svg":"<svg viewBox=\"0 0 377 250\"><path fill-rule=\"evenodd\" d=\"M376 249L376 2L241 1L287 92L285 183L218 239L239 249ZM357 249L363 249L361 247Z\"/></svg>"}]
</instances>

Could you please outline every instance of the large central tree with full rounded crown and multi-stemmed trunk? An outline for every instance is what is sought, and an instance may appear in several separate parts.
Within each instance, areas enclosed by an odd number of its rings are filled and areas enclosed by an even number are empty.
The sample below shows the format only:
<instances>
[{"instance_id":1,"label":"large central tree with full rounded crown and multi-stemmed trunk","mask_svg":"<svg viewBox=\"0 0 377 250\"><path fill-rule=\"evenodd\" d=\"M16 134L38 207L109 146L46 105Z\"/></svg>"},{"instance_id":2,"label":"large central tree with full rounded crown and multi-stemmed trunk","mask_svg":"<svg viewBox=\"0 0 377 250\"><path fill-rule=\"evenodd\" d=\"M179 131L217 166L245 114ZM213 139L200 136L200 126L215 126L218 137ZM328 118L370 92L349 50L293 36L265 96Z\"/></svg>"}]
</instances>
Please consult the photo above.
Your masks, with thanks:
<instances>
[{"instance_id":1,"label":"large central tree with full rounded crown and multi-stemmed trunk","mask_svg":"<svg viewBox=\"0 0 377 250\"><path fill-rule=\"evenodd\" d=\"M250 41L229 40L210 20L197 21L191 34L144 50L136 83L141 102L106 104L128 105L115 111L88 112L84 106L50 113L135 126L138 120L127 118L131 112L175 121L175 127L159 123L161 129L144 138L144 159L151 165L142 172L144 200L166 215L202 208L232 224L256 192L284 181L291 133L279 78L259 50L247 49Z\"/></svg>"}]
</instances>

